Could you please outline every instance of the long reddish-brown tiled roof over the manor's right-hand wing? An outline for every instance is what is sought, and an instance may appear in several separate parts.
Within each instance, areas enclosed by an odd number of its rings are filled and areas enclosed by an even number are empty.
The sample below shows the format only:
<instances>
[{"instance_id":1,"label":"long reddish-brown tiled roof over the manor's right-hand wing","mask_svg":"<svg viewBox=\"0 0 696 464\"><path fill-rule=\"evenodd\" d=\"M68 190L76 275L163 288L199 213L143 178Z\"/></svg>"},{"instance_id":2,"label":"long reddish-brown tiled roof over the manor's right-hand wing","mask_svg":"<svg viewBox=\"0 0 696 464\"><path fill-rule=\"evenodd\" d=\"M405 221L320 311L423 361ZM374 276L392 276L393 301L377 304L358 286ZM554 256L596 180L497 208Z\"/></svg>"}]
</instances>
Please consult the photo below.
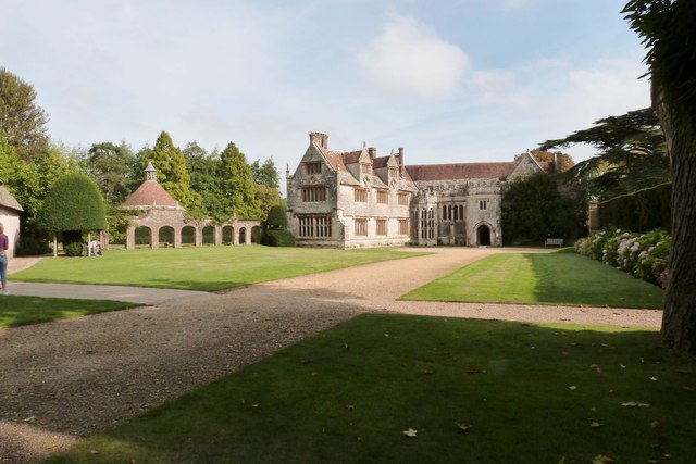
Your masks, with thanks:
<instances>
[{"instance_id":1,"label":"long reddish-brown tiled roof over the manor's right-hand wing","mask_svg":"<svg viewBox=\"0 0 696 464\"><path fill-rule=\"evenodd\" d=\"M406 166L414 181L506 178L518 163L457 163Z\"/></svg>"}]
</instances>

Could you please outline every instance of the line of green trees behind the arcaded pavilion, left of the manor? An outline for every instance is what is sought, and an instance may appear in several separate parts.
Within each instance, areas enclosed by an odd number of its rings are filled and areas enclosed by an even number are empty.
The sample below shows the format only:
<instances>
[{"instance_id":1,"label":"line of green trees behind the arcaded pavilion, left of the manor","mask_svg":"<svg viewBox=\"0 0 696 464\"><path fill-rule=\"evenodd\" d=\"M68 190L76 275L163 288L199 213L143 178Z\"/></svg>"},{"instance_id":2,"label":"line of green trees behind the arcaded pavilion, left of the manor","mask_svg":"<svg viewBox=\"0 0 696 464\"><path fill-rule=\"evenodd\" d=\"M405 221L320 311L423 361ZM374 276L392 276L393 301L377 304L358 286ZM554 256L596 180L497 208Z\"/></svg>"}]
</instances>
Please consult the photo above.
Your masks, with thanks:
<instances>
[{"instance_id":1,"label":"line of green trees behind the arcaded pavilion, left of the manor","mask_svg":"<svg viewBox=\"0 0 696 464\"><path fill-rule=\"evenodd\" d=\"M22 238L27 242L47 238L38 213L53 184L69 174L96 183L116 240L127 223L119 206L145 180L149 162L158 181L194 218L265 218L282 204L273 159L249 163L234 142L222 151L208 151L196 141L181 149L164 130L154 146L138 151L125 141L71 148L50 140L48 115L35 100L32 85L0 67L0 179L24 208Z\"/></svg>"}]
</instances>

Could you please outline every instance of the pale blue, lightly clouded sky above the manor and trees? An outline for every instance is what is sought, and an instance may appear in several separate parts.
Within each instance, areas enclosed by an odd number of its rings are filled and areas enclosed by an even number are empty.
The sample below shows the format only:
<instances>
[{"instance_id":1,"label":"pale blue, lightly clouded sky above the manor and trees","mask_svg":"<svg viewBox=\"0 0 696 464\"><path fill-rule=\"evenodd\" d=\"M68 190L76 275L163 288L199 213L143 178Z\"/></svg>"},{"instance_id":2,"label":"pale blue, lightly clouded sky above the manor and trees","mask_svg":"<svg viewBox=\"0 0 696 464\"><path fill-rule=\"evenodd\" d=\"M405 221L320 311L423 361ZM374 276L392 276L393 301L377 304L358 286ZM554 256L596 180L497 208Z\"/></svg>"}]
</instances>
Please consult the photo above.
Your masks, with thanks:
<instances>
[{"instance_id":1,"label":"pale blue, lightly clouded sky above the manor and trees","mask_svg":"<svg viewBox=\"0 0 696 464\"><path fill-rule=\"evenodd\" d=\"M166 130L282 177L310 131L406 164L511 161L649 105L625 1L0 0L0 66L71 147Z\"/></svg>"}]
</instances>

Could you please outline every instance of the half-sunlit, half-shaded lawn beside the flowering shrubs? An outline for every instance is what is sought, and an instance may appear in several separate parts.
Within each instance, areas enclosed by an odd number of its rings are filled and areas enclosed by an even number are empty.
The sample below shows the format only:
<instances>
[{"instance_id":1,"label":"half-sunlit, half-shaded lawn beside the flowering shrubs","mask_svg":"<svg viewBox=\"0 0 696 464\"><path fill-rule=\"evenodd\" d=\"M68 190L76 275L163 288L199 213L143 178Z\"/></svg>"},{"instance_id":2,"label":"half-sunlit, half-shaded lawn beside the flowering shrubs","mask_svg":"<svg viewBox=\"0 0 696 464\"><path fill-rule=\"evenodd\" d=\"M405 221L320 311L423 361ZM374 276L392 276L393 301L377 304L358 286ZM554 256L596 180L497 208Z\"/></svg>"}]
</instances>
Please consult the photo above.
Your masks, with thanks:
<instances>
[{"instance_id":1,"label":"half-sunlit, half-shaded lawn beside the flowering shrubs","mask_svg":"<svg viewBox=\"0 0 696 464\"><path fill-rule=\"evenodd\" d=\"M560 251L488 256L401 298L657 309L662 308L663 291L622 271Z\"/></svg>"}]
</instances>

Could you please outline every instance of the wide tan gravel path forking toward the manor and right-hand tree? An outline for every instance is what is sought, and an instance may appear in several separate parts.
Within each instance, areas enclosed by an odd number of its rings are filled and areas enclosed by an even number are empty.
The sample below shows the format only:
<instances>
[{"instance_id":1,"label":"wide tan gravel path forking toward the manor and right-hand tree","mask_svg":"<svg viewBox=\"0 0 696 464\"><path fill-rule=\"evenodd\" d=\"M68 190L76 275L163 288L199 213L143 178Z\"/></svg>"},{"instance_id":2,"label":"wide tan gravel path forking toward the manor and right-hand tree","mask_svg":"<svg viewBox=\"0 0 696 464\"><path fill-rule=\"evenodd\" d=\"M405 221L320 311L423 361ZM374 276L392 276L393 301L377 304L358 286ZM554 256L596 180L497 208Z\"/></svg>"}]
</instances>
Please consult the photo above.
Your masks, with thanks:
<instances>
[{"instance_id":1,"label":"wide tan gravel path forking toward the manor and right-hand tree","mask_svg":"<svg viewBox=\"0 0 696 464\"><path fill-rule=\"evenodd\" d=\"M415 250L418 251L418 250ZM434 254L0 329L0 462L30 463L363 312L659 327L659 311L395 299L509 249Z\"/></svg>"}]
</instances>

